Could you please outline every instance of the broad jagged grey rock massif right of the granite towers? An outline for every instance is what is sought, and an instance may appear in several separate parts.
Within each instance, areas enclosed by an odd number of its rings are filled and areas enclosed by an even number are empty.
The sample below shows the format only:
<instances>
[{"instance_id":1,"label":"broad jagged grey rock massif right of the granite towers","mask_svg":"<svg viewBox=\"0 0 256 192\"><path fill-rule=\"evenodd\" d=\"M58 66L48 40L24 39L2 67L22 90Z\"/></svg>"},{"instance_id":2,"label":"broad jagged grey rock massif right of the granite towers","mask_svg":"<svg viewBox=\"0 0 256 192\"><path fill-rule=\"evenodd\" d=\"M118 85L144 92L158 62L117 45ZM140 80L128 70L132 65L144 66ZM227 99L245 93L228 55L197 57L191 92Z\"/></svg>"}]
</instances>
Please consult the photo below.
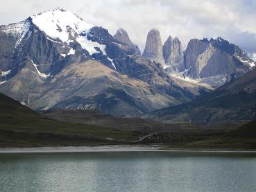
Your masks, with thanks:
<instances>
[{"instance_id":1,"label":"broad jagged grey rock massif right of the granite towers","mask_svg":"<svg viewBox=\"0 0 256 192\"><path fill-rule=\"evenodd\" d=\"M185 67L190 78L241 76L255 63L238 46L221 39L190 40L185 51Z\"/></svg>"}]
</instances>

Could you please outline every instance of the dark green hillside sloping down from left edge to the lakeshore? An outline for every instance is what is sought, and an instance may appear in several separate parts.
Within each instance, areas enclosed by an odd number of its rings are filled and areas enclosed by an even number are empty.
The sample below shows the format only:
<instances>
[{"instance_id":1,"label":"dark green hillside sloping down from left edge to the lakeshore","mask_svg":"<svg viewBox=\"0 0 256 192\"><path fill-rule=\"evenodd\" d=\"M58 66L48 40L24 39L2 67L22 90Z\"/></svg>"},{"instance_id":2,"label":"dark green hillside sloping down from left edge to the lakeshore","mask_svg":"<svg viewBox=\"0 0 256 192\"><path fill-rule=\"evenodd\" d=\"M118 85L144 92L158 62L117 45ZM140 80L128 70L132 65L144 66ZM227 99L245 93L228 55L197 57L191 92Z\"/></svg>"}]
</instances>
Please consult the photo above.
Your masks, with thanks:
<instances>
[{"instance_id":1,"label":"dark green hillside sloping down from left edge to the lakeshore","mask_svg":"<svg viewBox=\"0 0 256 192\"><path fill-rule=\"evenodd\" d=\"M0 94L0 146L65 146L127 143L133 132L48 119Z\"/></svg>"}]
</instances>

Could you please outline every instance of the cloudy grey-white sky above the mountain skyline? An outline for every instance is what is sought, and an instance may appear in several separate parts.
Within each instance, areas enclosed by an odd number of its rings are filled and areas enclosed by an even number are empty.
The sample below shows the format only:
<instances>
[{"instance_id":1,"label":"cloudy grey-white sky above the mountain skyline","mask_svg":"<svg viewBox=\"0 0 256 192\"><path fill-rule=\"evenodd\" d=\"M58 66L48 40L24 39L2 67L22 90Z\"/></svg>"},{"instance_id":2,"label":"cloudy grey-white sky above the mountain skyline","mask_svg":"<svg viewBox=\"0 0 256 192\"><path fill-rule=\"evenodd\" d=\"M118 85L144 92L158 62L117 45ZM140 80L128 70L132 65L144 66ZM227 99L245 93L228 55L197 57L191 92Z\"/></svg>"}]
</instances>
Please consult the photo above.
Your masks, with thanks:
<instances>
[{"instance_id":1,"label":"cloudy grey-white sky above the mountain skyline","mask_svg":"<svg viewBox=\"0 0 256 192\"><path fill-rule=\"evenodd\" d=\"M0 0L0 5L0 25L61 7L112 35L124 28L141 51L148 31L157 28L163 43L171 35L185 49L193 38L220 36L256 60L256 0Z\"/></svg>"}]
</instances>

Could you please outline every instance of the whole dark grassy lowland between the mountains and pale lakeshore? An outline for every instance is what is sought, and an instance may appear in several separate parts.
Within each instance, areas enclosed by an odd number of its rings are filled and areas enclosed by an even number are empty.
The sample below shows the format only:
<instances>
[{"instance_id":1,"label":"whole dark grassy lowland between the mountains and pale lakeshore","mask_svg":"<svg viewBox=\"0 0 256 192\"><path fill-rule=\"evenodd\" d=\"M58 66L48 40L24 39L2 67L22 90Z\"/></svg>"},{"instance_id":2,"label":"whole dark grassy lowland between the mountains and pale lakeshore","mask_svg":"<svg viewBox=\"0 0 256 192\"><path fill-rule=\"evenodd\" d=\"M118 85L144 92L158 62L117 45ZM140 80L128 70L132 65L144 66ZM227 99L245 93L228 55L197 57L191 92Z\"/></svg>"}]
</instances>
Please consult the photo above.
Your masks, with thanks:
<instances>
[{"instance_id":1,"label":"whole dark grassy lowland between the mountains and pale lakeshore","mask_svg":"<svg viewBox=\"0 0 256 192\"><path fill-rule=\"evenodd\" d=\"M256 148L255 121L230 132L228 125L203 127L139 118L120 119L93 111L53 110L42 114L0 94L0 147L87 146L137 141L135 143L162 143L170 148L186 149Z\"/></svg>"}]
</instances>

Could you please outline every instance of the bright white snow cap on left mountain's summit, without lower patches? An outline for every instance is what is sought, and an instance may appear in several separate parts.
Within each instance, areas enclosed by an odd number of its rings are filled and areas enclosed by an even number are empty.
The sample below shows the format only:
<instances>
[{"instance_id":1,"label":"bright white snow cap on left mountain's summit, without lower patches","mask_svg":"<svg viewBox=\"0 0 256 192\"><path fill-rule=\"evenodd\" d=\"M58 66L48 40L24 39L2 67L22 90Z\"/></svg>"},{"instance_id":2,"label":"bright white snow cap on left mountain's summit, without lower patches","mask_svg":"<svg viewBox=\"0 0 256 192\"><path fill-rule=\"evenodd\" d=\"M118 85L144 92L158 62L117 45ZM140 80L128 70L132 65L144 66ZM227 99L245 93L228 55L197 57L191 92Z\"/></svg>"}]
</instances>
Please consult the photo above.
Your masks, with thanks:
<instances>
[{"instance_id":1,"label":"bright white snow cap on left mountain's summit, without lower patches","mask_svg":"<svg viewBox=\"0 0 256 192\"><path fill-rule=\"evenodd\" d=\"M76 36L80 33L87 33L94 27L88 24L72 12L62 8L41 12L31 16L33 24L44 31L49 37L67 42L70 35Z\"/></svg>"}]
</instances>

